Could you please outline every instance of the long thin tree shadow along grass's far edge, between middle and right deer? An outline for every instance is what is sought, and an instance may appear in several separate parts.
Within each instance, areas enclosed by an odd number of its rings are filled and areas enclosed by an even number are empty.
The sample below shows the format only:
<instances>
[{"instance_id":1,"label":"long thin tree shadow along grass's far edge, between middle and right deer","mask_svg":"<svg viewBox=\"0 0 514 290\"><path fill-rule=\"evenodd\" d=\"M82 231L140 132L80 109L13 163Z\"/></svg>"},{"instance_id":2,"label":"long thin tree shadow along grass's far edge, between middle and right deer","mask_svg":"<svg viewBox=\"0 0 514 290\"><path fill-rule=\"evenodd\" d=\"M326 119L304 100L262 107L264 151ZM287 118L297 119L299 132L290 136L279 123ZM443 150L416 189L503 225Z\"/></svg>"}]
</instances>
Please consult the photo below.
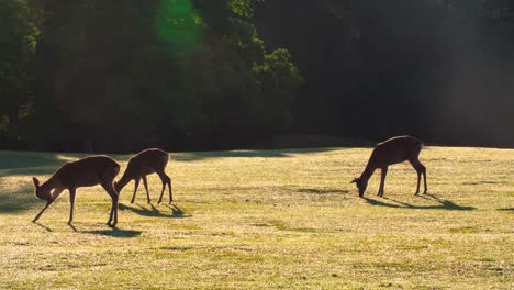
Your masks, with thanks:
<instances>
[{"instance_id":1,"label":"long thin tree shadow along grass's far edge, between middle and right deer","mask_svg":"<svg viewBox=\"0 0 514 290\"><path fill-rule=\"evenodd\" d=\"M177 161L197 161L216 158L284 158L294 154L311 154L331 152L336 148L305 148L305 149L283 149L283 150L228 150L228 152L193 152L172 154L171 159Z\"/></svg>"}]
</instances>

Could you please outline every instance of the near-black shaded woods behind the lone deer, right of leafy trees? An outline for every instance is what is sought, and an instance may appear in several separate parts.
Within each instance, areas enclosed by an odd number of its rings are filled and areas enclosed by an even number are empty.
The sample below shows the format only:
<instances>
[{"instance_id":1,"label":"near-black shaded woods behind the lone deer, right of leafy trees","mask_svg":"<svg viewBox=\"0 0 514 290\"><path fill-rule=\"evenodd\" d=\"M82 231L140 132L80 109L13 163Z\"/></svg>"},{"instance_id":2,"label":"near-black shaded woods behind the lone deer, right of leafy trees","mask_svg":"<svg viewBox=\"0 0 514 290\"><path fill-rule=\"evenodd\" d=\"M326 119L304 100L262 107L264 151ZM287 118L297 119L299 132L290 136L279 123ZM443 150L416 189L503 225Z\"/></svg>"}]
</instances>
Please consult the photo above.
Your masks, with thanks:
<instances>
[{"instance_id":1,"label":"near-black shaded woods behind the lone deer, right of leafy trees","mask_svg":"<svg viewBox=\"0 0 514 290\"><path fill-rule=\"evenodd\" d=\"M514 1L265 1L266 45L305 78L297 130L514 146Z\"/></svg>"}]
</instances>

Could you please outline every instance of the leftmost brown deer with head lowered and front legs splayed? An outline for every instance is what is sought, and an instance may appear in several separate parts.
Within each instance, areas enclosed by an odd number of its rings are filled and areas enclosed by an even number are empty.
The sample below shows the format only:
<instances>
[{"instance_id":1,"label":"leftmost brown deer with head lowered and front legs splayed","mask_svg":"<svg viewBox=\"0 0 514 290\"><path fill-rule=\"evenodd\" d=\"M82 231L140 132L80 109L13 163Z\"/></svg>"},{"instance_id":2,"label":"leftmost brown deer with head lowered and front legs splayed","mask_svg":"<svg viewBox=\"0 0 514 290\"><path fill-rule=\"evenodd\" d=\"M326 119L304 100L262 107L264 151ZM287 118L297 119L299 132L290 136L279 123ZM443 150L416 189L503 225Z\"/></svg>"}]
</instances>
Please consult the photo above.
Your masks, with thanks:
<instances>
[{"instance_id":1,"label":"leftmost brown deer with head lowered and front legs splayed","mask_svg":"<svg viewBox=\"0 0 514 290\"><path fill-rule=\"evenodd\" d=\"M118 223L118 191L114 189L113 181L119 172L120 165L113 159L107 156L92 156L65 164L43 185L40 185L40 180L33 177L35 196L38 199L46 200L45 207L34 217L33 222L36 222L57 197L67 189L70 201L68 224L71 224L77 189L100 185L109 193L112 201L108 225L115 226Z\"/></svg>"}]
</instances>

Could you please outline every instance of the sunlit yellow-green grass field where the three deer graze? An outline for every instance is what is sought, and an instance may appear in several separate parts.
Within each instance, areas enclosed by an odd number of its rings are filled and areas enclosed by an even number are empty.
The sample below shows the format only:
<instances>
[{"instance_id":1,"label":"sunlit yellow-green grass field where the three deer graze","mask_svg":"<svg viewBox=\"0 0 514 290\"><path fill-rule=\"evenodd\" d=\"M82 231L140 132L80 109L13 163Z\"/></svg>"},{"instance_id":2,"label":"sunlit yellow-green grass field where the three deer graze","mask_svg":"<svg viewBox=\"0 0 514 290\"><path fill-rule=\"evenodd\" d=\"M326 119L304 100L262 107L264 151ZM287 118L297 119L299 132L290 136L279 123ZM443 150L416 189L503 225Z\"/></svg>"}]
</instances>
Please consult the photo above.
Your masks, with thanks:
<instances>
[{"instance_id":1,"label":"sunlit yellow-green grass field where the three deer graze","mask_svg":"<svg viewBox=\"0 0 514 290\"><path fill-rule=\"evenodd\" d=\"M130 183L118 228L100 187L78 190L75 228L67 192L32 223L31 177L80 156L0 153L0 288L514 288L514 150L426 147L429 194L402 164L360 199L370 152L172 154L176 202L154 175L153 204L142 186L131 204Z\"/></svg>"}]
</instances>

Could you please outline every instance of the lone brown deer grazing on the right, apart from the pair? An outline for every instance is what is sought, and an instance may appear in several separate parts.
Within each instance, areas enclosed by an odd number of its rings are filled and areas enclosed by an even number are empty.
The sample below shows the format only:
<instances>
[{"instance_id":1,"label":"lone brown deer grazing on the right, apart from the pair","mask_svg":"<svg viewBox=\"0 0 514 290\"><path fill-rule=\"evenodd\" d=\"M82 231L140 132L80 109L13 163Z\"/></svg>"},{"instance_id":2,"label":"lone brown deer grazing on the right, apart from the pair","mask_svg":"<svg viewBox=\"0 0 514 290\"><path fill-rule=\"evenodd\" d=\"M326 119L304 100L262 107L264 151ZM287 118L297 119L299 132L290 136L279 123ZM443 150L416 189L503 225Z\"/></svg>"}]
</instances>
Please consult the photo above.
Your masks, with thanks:
<instances>
[{"instance_id":1,"label":"lone brown deer grazing on the right, apart from the pair","mask_svg":"<svg viewBox=\"0 0 514 290\"><path fill-rule=\"evenodd\" d=\"M420 181L422 175L425 181L424 193L426 193L428 191L428 188L426 187L426 168L418 159L422 148L423 143L411 136L392 137L377 144L362 175L351 181L351 183L357 185L359 197L364 197L366 188L368 187L368 180L378 168L382 170L382 177L377 196L382 197L386 176L388 175L388 167L405 160L407 160L417 172L417 189L415 194L420 193Z\"/></svg>"}]
</instances>

